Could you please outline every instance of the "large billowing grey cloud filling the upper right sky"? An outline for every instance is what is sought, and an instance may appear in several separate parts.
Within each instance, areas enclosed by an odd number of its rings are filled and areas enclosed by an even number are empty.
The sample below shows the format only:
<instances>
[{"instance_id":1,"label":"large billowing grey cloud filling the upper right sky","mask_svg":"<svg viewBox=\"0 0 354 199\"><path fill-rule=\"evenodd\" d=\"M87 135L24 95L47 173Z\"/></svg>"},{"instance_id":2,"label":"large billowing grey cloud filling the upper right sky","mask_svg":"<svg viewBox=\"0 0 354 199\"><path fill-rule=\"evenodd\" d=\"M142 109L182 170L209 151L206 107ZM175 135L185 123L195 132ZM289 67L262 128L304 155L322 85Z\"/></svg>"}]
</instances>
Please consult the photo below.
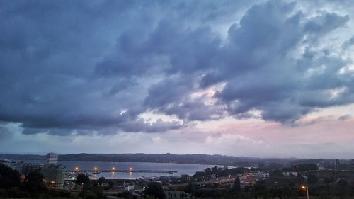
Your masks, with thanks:
<instances>
[{"instance_id":1,"label":"large billowing grey cloud filling the upper right sky","mask_svg":"<svg viewBox=\"0 0 354 199\"><path fill-rule=\"evenodd\" d=\"M344 25L348 16L326 13L310 18L303 26L303 14L291 15L293 8L279 1L253 6L240 25L230 28L227 51L233 53L234 59L218 75L233 76L217 95L230 114L244 115L256 108L265 120L292 123L314 108L353 103L353 93L348 89L353 78L338 73L348 64L346 60L321 51L312 52L312 56L304 53L297 60L287 55L302 44L310 29L317 40L325 31ZM330 23L326 30L321 28L323 21ZM256 27L262 31L254 31ZM319 72L309 74L316 69ZM329 90L338 87L345 90L338 98L331 98Z\"/></svg>"}]
</instances>

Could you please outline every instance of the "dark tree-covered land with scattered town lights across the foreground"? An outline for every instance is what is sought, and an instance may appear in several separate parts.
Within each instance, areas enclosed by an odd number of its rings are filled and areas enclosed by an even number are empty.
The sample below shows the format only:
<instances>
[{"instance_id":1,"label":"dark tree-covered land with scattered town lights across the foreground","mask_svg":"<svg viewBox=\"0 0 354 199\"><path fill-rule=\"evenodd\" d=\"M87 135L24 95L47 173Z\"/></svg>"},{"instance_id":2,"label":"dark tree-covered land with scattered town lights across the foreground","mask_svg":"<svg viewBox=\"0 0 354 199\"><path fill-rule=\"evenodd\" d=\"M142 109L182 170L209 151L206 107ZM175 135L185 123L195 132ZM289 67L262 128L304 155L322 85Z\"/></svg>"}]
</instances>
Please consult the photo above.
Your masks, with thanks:
<instances>
[{"instance_id":1,"label":"dark tree-covered land with scattered town lights across the foreground","mask_svg":"<svg viewBox=\"0 0 354 199\"><path fill-rule=\"evenodd\" d=\"M354 198L354 171L346 169L351 168L346 164L335 164L334 169L331 165L319 169L317 164L260 165L251 169L214 166L193 176L164 176L157 181L103 177L93 181L86 174L78 174L76 181L67 181L68 186L50 189L40 171L31 172L21 181L16 170L0 164L0 198L285 199L307 198L307 191L309 198ZM135 187L126 190L127 184Z\"/></svg>"}]
</instances>

